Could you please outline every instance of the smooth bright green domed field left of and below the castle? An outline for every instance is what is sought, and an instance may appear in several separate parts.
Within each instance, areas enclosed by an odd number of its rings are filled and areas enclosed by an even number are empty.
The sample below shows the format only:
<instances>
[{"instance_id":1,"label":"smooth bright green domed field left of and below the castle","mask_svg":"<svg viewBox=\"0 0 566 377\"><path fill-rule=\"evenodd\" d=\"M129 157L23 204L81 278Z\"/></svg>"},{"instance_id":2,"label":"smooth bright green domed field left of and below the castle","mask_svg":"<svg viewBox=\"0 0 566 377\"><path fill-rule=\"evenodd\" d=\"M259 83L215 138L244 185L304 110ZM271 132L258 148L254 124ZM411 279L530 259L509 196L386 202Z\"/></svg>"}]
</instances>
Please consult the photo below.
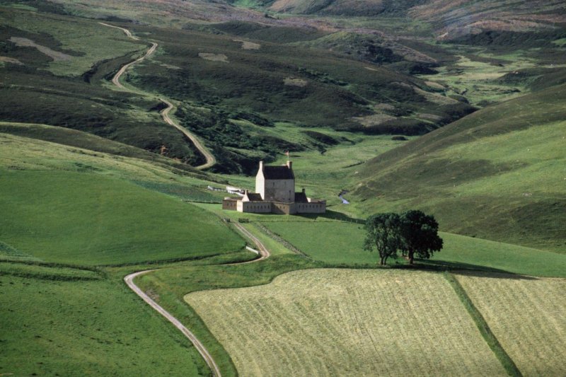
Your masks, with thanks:
<instances>
[{"instance_id":1,"label":"smooth bright green domed field left of and below the castle","mask_svg":"<svg viewBox=\"0 0 566 377\"><path fill-rule=\"evenodd\" d=\"M0 177L0 240L47 262L193 259L244 245L213 214L116 178L54 170Z\"/></svg>"}]
</instances>

